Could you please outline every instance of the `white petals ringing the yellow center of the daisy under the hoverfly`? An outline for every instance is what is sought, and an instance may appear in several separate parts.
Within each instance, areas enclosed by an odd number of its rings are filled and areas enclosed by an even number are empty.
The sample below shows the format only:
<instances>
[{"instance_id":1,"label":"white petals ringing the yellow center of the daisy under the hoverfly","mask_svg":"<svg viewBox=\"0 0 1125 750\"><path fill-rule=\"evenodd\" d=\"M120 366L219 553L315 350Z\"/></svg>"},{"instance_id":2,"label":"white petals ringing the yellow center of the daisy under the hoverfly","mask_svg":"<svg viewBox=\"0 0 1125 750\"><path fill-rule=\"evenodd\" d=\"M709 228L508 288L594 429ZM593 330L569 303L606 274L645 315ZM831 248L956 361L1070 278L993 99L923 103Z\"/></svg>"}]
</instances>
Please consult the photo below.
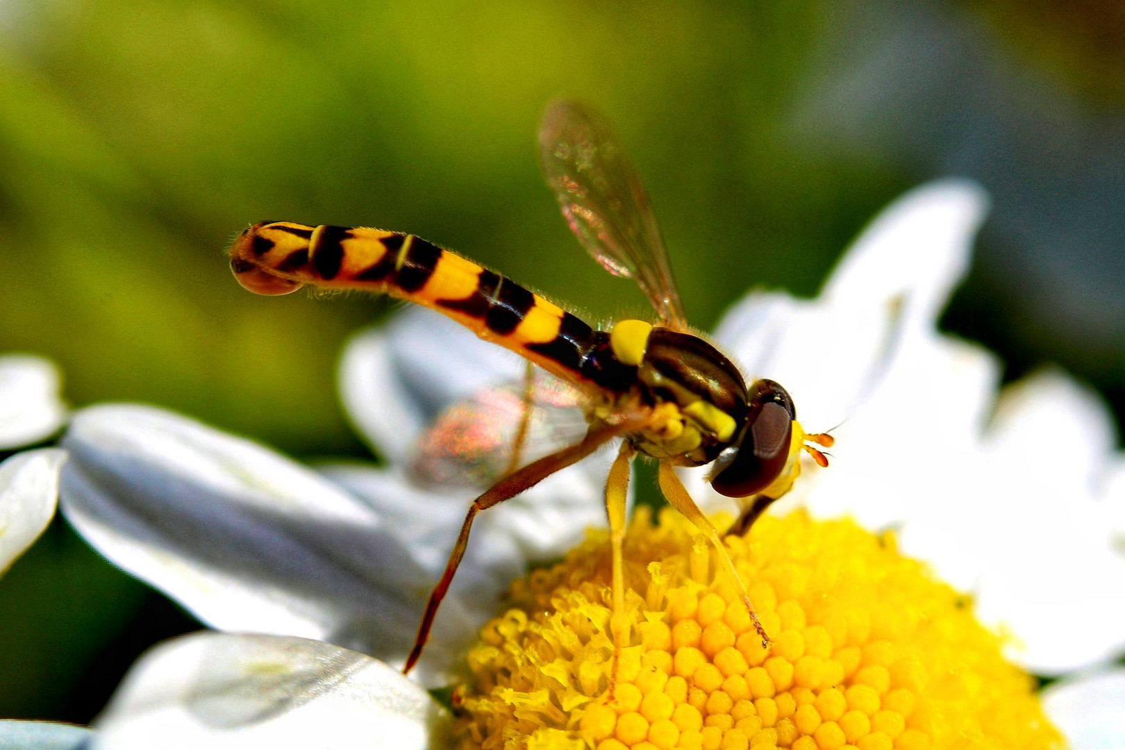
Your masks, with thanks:
<instances>
[{"instance_id":1,"label":"white petals ringing the yellow center of the daisy under the hoverfly","mask_svg":"<svg viewBox=\"0 0 1125 750\"><path fill-rule=\"evenodd\" d=\"M1014 658L1062 674L1123 645L1125 566L1112 530L1125 517L1125 471L1089 394L1045 374L994 405L993 359L936 331L983 204L962 182L910 193L860 238L817 300L752 295L717 338L748 373L784 383L807 426L847 417L834 466L809 471L790 501L899 527L908 553L971 589L982 615L1010 629L1023 647ZM80 533L205 622L286 636L162 647L101 720L107 747L169 747L169 737L182 747L302 743L326 716L340 740L315 737L328 747L369 743L372 733L403 738L395 747L424 744L440 720L425 719L434 708L410 680L294 636L400 662L475 494L412 485L415 441L451 401L521 372L518 359L424 313L359 336L344 356L344 399L389 467L333 468L334 482L156 409L80 413L62 478L64 512ZM449 654L529 560L604 523L604 466L579 464L482 514L423 677L456 669ZM701 500L716 499L695 481ZM1101 683L1089 685L1101 695ZM227 705L232 694L238 699ZM325 705L315 705L318 695ZM1072 725L1073 702L1050 705ZM1125 742L1119 728L1107 731Z\"/></svg>"}]
</instances>

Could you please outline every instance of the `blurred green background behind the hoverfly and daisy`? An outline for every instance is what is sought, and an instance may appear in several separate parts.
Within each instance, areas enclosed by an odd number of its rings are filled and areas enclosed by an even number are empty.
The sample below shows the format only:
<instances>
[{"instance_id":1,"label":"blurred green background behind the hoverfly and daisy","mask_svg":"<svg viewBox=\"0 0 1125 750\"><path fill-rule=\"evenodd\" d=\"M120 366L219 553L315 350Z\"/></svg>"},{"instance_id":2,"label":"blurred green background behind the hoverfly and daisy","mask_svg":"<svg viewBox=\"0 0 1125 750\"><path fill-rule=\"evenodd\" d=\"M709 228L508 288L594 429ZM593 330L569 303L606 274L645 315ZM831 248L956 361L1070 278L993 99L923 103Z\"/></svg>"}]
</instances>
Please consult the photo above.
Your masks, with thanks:
<instances>
[{"instance_id":1,"label":"blurred green background behind the hoverfly and daisy","mask_svg":"<svg viewBox=\"0 0 1125 750\"><path fill-rule=\"evenodd\" d=\"M227 244L260 219L375 225L637 313L538 171L537 120L567 96L615 123L703 328L754 286L816 293L897 195L975 178L993 211L944 327L1008 378L1066 368L1120 424L1123 8L0 0L0 351L52 358L75 406L362 455L335 362L393 306L251 296ZM0 715L89 721L196 626L56 522L0 581Z\"/></svg>"}]
</instances>

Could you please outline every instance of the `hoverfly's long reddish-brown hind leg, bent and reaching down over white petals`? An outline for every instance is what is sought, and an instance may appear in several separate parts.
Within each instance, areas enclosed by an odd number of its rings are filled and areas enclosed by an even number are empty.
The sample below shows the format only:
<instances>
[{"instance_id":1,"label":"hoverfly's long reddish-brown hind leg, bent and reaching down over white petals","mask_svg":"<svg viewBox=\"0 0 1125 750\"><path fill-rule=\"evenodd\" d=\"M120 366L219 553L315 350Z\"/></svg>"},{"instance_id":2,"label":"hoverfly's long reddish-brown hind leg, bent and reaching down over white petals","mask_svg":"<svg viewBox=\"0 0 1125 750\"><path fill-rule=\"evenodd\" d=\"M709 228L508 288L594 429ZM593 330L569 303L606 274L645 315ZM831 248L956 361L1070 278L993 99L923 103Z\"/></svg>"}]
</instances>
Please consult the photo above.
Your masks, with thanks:
<instances>
[{"instance_id":1,"label":"hoverfly's long reddish-brown hind leg, bent and reaching down over white petals","mask_svg":"<svg viewBox=\"0 0 1125 750\"><path fill-rule=\"evenodd\" d=\"M594 425L586 433L586 436L582 439L582 442L532 461L519 471L504 477L472 500L472 505L469 506L469 512L465 516L465 522L461 524L461 532L457 535L457 543L453 544L453 551L449 553L446 570L433 587L433 591L430 593L430 600L426 602L425 613L422 615L417 635L414 638L414 648L411 649L411 653L406 658L406 666L403 667L404 675L414 667L418 657L422 656L422 648L430 636L430 629L433 626L433 618L438 614L438 606L446 597L446 591L449 590L449 585L453 580L453 573L457 572L457 566L461 562L461 557L465 554L465 546L469 541L469 530L472 526L472 518L476 517L477 513L513 498L529 487L538 485L556 471L580 461L596 451L606 441L623 432L624 428L627 428L624 425L606 425L604 423Z\"/></svg>"}]
</instances>

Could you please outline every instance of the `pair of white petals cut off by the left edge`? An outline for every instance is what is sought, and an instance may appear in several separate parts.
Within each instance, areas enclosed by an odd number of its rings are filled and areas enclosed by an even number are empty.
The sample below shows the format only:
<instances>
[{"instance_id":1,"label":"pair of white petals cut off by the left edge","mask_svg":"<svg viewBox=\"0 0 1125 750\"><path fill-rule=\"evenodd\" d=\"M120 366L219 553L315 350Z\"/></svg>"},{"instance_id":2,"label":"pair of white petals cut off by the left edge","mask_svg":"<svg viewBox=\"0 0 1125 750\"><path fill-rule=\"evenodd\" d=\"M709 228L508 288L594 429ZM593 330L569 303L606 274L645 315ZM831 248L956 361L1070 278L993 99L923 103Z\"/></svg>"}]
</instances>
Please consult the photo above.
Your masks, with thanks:
<instances>
[{"instance_id":1,"label":"pair of white petals cut off by the left edge","mask_svg":"<svg viewBox=\"0 0 1125 750\"><path fill-rule=\"evenodd\" d=\"M55 433L66 409L58 371L38 356L0 356L0 451L37 443ZM57 449L16 453L0 462L0 576L32 545L55 514Z\"/></svg>"}]
</instances>

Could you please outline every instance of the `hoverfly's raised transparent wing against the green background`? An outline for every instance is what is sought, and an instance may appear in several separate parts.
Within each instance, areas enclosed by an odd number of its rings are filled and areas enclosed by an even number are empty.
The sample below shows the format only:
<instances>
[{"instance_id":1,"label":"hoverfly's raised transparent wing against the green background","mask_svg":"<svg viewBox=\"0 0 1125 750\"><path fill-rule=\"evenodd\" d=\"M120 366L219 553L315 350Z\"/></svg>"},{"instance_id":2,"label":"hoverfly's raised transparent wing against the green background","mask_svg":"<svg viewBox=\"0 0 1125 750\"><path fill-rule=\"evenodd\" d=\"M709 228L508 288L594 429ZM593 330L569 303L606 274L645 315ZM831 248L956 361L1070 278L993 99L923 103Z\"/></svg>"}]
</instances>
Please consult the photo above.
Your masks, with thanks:
<instances>
[{"instance_id":1,"label":"hoverfly's raised transparent wing against the green background","mask_svg":"<svg viewBox=\"0 0 1125 750\"><path fill-rule=\"evenodd\" d=\"M636 279L662 320L686 327L648 195L605 118L556 101L543 114L539 146L547 182L594 260Z\"/></svg>"}]
</instances>

